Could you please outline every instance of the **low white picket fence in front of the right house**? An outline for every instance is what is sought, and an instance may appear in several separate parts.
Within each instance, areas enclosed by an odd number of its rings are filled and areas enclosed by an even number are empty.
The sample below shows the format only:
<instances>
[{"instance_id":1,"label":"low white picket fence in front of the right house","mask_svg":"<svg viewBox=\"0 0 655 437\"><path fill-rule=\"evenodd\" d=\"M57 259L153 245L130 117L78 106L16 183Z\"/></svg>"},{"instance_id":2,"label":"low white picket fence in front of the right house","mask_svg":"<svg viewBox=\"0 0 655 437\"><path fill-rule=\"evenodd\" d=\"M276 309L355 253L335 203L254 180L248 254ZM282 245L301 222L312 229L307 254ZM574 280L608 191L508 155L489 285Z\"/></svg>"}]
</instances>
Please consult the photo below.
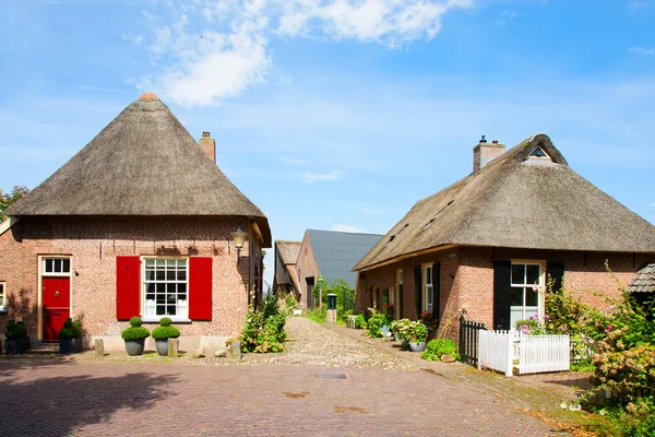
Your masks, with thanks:
<instances>
[{"instance_id":1,"label":"low white picket fence in front of the right house","mask_svg":"<svg viewBox=\"0 0 655 437\"><path fill-rule=\"evenodd\" d=\"M478 331L478 369L512 376L569 370L569 335L526 335L521 331Z\"/></svg>"}]
</instances>

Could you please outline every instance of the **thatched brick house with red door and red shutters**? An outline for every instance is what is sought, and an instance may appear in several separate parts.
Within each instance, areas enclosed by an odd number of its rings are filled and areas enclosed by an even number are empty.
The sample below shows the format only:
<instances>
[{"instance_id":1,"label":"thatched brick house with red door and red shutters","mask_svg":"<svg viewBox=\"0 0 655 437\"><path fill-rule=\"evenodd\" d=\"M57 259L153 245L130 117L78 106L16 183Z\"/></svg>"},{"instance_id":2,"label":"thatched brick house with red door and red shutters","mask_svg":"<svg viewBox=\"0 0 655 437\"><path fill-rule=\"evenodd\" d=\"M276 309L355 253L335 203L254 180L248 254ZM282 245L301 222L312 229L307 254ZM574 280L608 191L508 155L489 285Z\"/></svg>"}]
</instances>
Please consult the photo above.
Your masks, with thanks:
<instances>
[{"instance_id":1,"label":"thatched brick house with red door and red shutters","mask_svg":"<svg viewBox=\"0 0 655 437\"><path fill-rule=\"evenodd\" d=\"M271 247L266 217L216 166L210 133L199 144L151 93L7 214L0 332L23 319L33 343L57 341L72 317L86 345L122 350L131 317L152 330L168 316L181 347L223 346L249 291L261 292Z\"/></svg>"}]
</instances>

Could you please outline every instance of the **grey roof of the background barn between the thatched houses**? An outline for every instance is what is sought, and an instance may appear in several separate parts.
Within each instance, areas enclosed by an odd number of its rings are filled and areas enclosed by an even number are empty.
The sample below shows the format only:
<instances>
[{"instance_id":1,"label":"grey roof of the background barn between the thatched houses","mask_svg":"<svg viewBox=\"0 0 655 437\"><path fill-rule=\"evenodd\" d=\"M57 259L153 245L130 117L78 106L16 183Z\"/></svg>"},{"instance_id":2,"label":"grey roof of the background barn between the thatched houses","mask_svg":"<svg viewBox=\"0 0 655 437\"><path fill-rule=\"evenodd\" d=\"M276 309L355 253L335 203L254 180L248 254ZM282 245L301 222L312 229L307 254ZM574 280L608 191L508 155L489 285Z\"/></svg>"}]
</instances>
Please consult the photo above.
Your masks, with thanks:
<instances>
[{"instance_id":1,"label":"grey roof of the background barn between the thatched houses","mask_svg":"<svg viewBox=\"0 0 655 437\"><path fill-rule=\"evenodd\" d=\"M382 238L379 234L353 234L307 229L319 271L327 282L342 277L355 288L353 265Z\"/></svg>"}]
</instances>

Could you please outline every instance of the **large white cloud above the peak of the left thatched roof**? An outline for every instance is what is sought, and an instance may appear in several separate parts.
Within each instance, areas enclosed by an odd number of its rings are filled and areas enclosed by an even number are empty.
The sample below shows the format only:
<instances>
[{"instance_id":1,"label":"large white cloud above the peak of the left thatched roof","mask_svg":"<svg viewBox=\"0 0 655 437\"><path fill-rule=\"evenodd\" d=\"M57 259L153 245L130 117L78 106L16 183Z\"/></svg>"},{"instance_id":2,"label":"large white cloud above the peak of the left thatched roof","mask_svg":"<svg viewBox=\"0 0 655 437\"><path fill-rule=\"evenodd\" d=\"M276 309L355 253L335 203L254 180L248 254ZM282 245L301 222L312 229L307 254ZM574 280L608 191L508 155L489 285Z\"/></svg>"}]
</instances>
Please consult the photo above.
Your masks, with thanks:
<instances>
[{"instance_id":1,"label":"large white cloud above the peak of the left thatched roof","mask_svg":"<svg viewBox=\"0 0 655 437\"><path fill-rule=\"evenodd\" d=\"M184 106L206 106L240 95L265 82L273 64L274 35L354 39L398 47L430 40L441 19L473 0L202 0L168 4L168 20L143 11L153 26L150 48L163 72L142 78L139 87L154 87ZM184 13L178 13L178 9ZM129 38L141 44L141 36ZM138 43L136 43L138 42Z\"/></svg>"}]
</instances>

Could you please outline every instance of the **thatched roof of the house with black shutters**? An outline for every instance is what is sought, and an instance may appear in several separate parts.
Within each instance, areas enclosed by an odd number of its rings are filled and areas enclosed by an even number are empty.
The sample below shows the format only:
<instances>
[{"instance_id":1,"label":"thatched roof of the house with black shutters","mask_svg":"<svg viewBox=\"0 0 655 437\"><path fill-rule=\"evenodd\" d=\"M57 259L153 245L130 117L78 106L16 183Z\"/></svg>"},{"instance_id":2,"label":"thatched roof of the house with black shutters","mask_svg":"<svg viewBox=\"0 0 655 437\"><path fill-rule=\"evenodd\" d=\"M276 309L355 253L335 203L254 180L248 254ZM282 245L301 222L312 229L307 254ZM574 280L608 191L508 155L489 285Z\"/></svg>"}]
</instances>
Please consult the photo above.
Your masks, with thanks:
<instances>
[{"instance_id":1,"label":"thatched roof of the house with black shutters","mask_svg":"<svg viewBox=\"0 0 655 437\"><path fill-rule=\"evenodd\" d=\"M528 160L540 146L550 160ZM571 168L536 134L414 208L356 265L446 245L655 252L655 226Z\"/></svg>"}]
</instances>

